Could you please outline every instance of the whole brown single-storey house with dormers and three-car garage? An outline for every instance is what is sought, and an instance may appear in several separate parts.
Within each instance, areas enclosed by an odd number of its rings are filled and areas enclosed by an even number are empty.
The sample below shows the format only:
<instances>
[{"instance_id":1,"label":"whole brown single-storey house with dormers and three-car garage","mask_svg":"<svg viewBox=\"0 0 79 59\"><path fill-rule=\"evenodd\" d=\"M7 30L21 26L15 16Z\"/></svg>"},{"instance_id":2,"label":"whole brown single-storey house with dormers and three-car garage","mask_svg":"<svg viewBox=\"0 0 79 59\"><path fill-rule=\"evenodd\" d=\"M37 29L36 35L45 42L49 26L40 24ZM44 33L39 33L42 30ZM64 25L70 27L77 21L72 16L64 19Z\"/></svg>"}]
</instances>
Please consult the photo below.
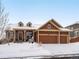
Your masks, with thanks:
<instances>
[{"instance_id":1,"label":"whole brown single-storey house with dormers and three-car garage","mask_svg":"<svg viewBox=\"0 0 79 59\"><path fill-rule=\"evenodd\" d=\"M69 43L69 33L69 29L63 28L54 19L40 26L32 26L30 22L24 26L19 22L18 26L6 29L6 39L11 42L27 42L34 39L38 43Z\"/></svg>"}]
</instances>

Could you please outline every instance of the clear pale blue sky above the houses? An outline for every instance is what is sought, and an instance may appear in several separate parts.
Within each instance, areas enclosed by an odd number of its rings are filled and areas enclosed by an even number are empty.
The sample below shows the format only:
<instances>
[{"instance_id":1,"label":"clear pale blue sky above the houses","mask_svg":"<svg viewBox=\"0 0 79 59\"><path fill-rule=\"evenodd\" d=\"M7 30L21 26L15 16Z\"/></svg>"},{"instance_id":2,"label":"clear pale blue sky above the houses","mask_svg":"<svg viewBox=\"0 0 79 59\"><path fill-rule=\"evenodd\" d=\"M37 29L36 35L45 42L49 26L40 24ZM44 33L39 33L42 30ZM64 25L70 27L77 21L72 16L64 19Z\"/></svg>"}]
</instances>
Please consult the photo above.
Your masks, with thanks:
<instances>
[{"instance_id":1,"label":"clear pale blue sky above the houses","mask_svg":"<svg viewBox=\"0 0 79 59\"><path fill-rule=\"evenodd\" d=\"M8 23L41 24L54 19L63 27L79 21L79 0L2 0Z\"/></svg>"}]
</instances>

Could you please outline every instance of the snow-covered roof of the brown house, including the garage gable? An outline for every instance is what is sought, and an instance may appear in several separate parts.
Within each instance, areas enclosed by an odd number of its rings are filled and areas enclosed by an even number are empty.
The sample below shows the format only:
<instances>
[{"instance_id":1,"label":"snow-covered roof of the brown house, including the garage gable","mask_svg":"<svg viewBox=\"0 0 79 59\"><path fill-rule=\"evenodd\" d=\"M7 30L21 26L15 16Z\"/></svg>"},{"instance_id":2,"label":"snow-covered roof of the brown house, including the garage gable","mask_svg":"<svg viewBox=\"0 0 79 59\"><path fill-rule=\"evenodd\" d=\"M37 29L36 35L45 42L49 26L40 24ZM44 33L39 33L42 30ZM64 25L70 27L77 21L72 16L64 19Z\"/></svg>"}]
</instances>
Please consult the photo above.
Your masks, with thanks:
<instances>
[{"instance_id":1,"label":"snow-covered roof of the brown house, including the garage gable","mask_svg":"<svg viewBox=\"0 0 79 59\"><path fill-rule=\"evenodd\" d=\"M51 19L51 20L49 20L49 21L47 21L47 22L45 22L45 23L43 23L43 24L32 25L32 27L28 27L28 26L22 26L22 27L20 27L20 26L18 26L18 24L16 24L16 25L9 25L9 28L6 29L6 30L13 30L13 29L38 30L38 29L40 29L42 26L44 26L44 25L45 25L46 23L48 23L48 22L54 23L55 26L56 26L60 31L71 31L71 30L69 30L69 29L63 28L63 27L62 27L58 22L56 22L54 19Z\"/></svg>"}]
</instances>

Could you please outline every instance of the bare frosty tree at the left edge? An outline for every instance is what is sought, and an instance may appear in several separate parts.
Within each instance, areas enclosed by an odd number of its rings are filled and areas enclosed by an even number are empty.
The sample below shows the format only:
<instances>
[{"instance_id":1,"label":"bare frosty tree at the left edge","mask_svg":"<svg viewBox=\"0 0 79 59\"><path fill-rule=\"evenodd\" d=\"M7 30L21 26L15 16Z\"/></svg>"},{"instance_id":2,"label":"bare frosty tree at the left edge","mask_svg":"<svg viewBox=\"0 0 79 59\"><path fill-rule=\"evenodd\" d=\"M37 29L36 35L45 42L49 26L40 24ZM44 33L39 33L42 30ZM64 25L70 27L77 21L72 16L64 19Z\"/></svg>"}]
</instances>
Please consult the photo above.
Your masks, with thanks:
<instances>
[{"instance_id":1,"label":"bare frosty tree at the left edge","mask_svg":"<svg viewBox=\"0 0 79 59\"><path fill-rule=\"evenodd\" d=\"M8 13L5 13L4 7L2 6L2 2L0 0L0 39L3 38L6 24L8 22Z\"/></svg>"}]
</instances>

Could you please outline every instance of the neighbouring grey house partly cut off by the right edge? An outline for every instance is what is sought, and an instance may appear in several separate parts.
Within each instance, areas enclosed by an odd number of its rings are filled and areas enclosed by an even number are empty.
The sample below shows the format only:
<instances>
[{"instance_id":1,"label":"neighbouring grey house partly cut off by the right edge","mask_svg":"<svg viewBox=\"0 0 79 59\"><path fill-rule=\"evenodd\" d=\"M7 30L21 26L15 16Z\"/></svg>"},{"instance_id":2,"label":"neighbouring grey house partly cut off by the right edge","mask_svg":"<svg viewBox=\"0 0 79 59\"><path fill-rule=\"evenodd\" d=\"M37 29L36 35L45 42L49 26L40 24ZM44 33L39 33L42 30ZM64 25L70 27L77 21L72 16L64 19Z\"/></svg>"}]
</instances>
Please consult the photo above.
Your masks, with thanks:
<instances>
[{"instance_id":1,"label":"neighbouring grey house partly cut off by the right edge","mask_svg":"<svg viewBox=\"0 0 79 59\"><path fill-rule=\"evenodd\" d=\"M79 22L69 25L66 28L72 30L70 32L71 37L79 37Z\"/></svg>"}]
</instances>

